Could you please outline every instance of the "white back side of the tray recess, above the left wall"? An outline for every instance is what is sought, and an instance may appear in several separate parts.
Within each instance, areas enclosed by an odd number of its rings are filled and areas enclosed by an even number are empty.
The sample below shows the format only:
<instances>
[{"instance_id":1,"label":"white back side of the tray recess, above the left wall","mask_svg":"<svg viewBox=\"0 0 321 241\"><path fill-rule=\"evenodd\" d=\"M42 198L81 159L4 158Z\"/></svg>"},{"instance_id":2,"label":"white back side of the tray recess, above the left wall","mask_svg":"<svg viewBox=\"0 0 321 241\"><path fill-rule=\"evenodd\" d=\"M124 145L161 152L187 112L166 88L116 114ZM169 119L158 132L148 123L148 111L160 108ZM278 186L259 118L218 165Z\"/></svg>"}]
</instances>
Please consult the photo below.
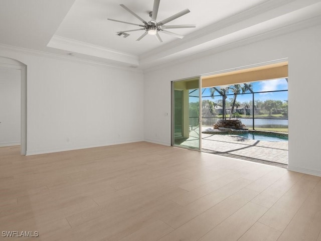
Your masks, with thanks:
<instances>
[{"instance_id":1,"label":"white back side of the tray recess, above the left wall","mask_svg":"<svg viewBox=\"0 0 321 241\"><path fill-rule=\"evenodd\" d=\"M138 67L139 65L138 56L57 35L52 37L47 47L108 59L115 63L123 63L127 66Z\"/></svg>"}]
</instances>

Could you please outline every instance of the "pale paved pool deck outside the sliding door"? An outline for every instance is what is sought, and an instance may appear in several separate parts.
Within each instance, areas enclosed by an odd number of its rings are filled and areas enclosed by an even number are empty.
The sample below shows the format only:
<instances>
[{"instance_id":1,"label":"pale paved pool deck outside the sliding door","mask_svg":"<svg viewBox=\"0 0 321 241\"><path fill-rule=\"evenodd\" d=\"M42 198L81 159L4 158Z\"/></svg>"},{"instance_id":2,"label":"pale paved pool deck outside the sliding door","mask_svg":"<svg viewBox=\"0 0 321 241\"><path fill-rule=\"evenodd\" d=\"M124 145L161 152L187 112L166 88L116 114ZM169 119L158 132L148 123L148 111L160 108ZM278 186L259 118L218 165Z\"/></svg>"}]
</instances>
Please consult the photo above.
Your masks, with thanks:
<instances>
[{"instance_id":1,"label":"pale paved pool deck outside the sliding door","mask_svg":"<svg viewBox=\"0 0 321 241\"><path fill-rule=\"evenodd\" d=\"M211 127L202 127L206 131ZM181 145L197 146L198 128L190 133L190 138ZM232 157L252 162L264 163L278 167L287 167L288 142L267 142L249 140L237 135L202 134L204 152Z\"/></svg>"}]
</instances>

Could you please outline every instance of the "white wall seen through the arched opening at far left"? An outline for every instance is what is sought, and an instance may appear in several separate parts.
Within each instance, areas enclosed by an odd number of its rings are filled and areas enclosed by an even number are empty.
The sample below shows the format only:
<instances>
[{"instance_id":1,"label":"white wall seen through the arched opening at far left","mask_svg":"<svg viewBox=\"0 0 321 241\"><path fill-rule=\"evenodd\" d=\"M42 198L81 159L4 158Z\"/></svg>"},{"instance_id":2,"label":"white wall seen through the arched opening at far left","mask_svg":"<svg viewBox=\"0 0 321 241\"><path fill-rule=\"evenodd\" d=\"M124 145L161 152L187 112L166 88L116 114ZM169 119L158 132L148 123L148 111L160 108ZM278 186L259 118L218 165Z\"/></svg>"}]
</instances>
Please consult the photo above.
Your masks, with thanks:
<instances>
[{"instance_id":1,"label":"white wall seen through the arched opening at far left","mask_svg":"<svg viewBox=\"0 0 321 241\"><path fill-rule=\"evenodd\" d=\"M20 70L0 68L0 147L20 145Z\"/></svg>"}]
</instances>

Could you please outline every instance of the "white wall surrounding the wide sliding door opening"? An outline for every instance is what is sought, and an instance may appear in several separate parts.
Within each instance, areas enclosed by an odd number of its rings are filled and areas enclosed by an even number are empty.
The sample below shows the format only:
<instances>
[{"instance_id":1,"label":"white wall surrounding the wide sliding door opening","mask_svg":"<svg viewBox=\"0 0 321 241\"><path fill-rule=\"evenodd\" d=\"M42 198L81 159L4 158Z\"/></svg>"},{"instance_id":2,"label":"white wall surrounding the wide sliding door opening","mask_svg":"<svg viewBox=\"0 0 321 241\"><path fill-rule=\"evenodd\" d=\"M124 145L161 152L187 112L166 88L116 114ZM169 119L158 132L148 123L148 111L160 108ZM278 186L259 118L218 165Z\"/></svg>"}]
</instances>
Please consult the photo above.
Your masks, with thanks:
<instances>
[{"instance_id":1,"label":"white wall surrounding the wide sliding door opening","mask_svg":"<svg viewBox=\"0 0 321 241\"><path fill-rule=\"evenodd\" d=\"M321 128L318 90L321 26L285 34L188 62L172 64L144 75L144 137L171 144L171 81L210 72L288 58L290 170L321 176Z\"/></svg>"}]
</instances>

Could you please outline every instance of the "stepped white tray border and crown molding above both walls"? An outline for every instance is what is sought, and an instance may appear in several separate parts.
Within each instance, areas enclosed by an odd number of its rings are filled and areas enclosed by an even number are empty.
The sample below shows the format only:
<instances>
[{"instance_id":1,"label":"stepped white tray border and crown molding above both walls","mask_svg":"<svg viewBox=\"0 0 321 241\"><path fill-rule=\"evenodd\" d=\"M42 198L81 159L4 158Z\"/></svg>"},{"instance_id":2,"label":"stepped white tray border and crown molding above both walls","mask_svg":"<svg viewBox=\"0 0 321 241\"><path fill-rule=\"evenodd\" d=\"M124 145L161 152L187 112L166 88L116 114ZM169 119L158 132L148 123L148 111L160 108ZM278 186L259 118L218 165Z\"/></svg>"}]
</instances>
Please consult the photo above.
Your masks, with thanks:
<instances>
[{"instance_id":1,"label":"stepped white tray border and crown molding above both walls","mask_svg":"<svg viewBox=\"0 0 321 241\"><path fill-rule=\"evenodd\" d=\"M299 30L300 26L309 27L309 24L320 22L320 12L320 0L269 0L139 57L57 35L52 37L47 47L39 50L0 44L0 51L6 49L96 66L149 72L161 66L186 62ZM67 53L74 53L75 56Z\"/></svg>"}]
</instances>

